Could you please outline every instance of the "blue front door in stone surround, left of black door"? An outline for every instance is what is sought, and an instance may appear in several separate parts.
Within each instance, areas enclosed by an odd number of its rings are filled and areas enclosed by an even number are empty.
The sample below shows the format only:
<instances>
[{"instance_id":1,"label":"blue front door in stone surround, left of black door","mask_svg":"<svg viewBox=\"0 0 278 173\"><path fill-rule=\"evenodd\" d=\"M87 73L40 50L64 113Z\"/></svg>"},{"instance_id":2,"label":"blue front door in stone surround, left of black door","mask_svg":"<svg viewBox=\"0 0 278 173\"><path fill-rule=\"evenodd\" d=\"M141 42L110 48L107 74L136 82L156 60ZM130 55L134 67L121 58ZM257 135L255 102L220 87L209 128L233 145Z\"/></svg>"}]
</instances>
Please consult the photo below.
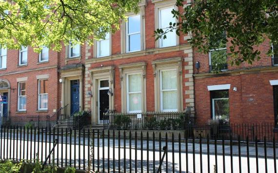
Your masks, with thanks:
<instances>
[{"instance_id":1,"label":"blue front door in stone surround, left of black door","mask_svg":"<svg viewBox=\"0 0 278 173\"><path fill-rule=\"evenodd\" d=\"M71 81L71 114L79 111L79 80Z\"/></svg>"}]
</instances>

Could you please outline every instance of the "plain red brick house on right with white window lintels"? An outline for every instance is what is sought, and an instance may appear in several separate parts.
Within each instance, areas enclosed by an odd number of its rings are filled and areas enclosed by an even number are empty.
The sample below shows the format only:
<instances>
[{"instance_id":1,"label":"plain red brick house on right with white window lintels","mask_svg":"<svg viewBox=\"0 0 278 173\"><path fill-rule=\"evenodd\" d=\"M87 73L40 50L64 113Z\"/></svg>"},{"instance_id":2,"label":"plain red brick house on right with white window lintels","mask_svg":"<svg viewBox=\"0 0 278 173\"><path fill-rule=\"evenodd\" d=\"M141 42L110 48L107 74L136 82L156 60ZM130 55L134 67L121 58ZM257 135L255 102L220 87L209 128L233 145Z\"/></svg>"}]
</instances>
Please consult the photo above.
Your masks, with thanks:
<instances>
[{"instance_id":1,"label":"plain red brick house on right with white window lintels","mask_svg":"<svg viewBox=\"0 0 278 173\"><path fill-rule=\"evenodd\" d=\"M269 40L258 47L253 65L230 66L224 46L209 54L194 51L195 106L198 122L220 118L230 123L278 123L278 56L266 55ZM276 46L274 46L276 49ZM222 72L213 73L215 54L223 56ZM199 66L199 67L198 67Z\"/></svg>"}]
</instances>

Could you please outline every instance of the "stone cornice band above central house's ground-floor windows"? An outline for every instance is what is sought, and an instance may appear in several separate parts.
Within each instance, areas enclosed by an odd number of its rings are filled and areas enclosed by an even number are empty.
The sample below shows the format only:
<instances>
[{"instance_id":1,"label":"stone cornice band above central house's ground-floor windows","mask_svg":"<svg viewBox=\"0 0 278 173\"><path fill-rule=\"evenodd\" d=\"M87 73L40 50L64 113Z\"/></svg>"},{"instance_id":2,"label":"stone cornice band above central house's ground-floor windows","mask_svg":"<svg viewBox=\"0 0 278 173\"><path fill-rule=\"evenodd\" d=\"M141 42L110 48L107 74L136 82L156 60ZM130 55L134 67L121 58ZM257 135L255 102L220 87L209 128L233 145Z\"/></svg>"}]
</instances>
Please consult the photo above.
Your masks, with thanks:
<instances>
[{"instance_id":1,"label":"stone cornice band above central house's ground-floor windows","mask_svg":"<svg viewBox=\"0 0 278 173\"><path fill-rule=\"evenodd\" d=\"M166 47L166 48L156 48L156 49L148 49L148 50L138 51L138 52L115 54L115 55L105 56L105 57L101 57L101 58L91 58L91 59L85 60L85 64L99 63L99 62L105 62L105 61L137 57L137 56L145 56L145 55L149 55L149 54L184 51L186 49L192 49L191 45L183 44L183 45L179 45L179 46L172 46L172 47Z\"/></svg>"}]
</instances>

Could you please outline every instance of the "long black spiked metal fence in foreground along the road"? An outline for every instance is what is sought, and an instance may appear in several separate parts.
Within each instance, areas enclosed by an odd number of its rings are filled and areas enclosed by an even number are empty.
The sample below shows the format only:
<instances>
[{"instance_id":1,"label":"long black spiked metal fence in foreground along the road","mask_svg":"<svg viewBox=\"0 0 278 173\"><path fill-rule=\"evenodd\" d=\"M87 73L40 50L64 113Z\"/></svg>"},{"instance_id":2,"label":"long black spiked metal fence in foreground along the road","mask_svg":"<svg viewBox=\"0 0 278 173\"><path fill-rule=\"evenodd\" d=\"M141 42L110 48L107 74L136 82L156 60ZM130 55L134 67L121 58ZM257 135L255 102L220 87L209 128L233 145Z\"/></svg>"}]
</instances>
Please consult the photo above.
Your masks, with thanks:
<instances>
[{"instance_id":1,"label":"long black spiked metal fence in foreground along the road","mask_svg":"<svg viewBox=\"0 0 278 173\"><path fill-rule=\"evenodd\" d=\"M183 138L181 134L115 130L0 129L0 158L44 162L53 148L59 167L98 172L276 173L276 139L261 142ZM50 164L51 161L47 160Z\"/></svg>"}]
</instances>

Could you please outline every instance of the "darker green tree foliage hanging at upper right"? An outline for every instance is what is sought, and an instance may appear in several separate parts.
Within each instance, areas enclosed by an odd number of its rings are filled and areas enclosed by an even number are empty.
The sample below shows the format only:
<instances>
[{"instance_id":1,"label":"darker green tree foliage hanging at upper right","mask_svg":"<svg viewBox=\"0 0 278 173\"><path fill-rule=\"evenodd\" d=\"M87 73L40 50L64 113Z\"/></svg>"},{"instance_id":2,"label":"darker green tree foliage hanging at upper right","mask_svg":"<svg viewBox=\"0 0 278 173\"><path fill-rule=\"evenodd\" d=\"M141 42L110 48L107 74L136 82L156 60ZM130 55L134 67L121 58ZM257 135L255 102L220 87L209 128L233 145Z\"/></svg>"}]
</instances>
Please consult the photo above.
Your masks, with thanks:
<instances>
[{"instance_id":1,"label":"darker green tree foliage hanging at upper right","mask_svg":"<svg viewBox=\"0 0 278 173\"><path fill-rule=\"evenodd\" d=\"M231 65L241 62L252 64L260 59L257 46L269 38L271 44L278 44L278 1L277 0L177 0L183 13L172 11L173 17L181 22L170 23L167 30L155 31L157 39L166 38L165 33L176 29L177 34L191 32L188 40L200 52L208 53L219 44L226 44L231 53ZM227 38L222 37L226 32ZM271 45L269 54L273 53Z\"/></svg>"}]
</instances>

